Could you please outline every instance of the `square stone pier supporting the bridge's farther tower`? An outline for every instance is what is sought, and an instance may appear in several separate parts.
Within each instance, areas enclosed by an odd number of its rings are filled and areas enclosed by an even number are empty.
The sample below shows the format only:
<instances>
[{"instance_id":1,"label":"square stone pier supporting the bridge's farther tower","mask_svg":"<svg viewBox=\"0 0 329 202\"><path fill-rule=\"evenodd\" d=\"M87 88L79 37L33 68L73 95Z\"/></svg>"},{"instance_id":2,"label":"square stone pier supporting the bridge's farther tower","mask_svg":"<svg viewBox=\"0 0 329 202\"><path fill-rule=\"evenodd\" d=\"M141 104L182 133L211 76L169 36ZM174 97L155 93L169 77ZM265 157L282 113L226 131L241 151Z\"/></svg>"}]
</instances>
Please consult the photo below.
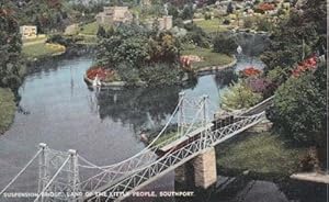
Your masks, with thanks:
<instances>
[{"instance_id":1,"label":"square stone pier supporting the bridge's farther tower","mask_svg":"<svg viewBox=\"0 0 329 202\"><path fill-rule=\"evenodd\" d=\"M192 168L191 168L192 167ZM191 182L203 189L209 188L217 181L215 148L208 148L185 165L174 170L175 181L179 183Z\"/></svg>"}]
</instances>

